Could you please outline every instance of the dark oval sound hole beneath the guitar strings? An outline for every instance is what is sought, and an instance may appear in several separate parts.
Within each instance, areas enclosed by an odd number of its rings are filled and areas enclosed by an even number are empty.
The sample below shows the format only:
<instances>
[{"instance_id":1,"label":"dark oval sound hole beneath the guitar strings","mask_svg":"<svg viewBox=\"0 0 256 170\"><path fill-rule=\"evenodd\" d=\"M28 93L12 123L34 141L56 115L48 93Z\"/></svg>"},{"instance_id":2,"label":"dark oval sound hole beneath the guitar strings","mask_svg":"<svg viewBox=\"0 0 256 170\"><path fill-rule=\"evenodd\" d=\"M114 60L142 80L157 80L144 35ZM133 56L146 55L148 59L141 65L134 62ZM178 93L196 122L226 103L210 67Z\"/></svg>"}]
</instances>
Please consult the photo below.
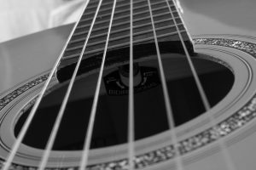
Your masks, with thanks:
<instances>
[{"instance_id":1,"label":"dark oval sound hole beneath the guitar strings","mask_svg":"<svg viewBox=\"0 0 256 170\"><path fill-rule=\"evenodd\" d=\"M193 62L211 106L218 104L232 88L234 82L232 72L224 65L211 60L195 57ZM185 57L180 55L173 58L167 57L163 59L163 64L175 125L181 126L203 114L205 109ZM144 89L138 90L135 94L135 138L138 140L165 132L169 127L163 92L158 79L157 60L137 62L136 65L136 69L147 67L157 72L157 77L150 80L155 82L155 86L151 88L142 86ZM109 89L106 85L106 78L109 75L124 71L124 69L119 70L120 67L116 67L104 72L105 82L102 81L90 148L96 149L127 142L128 95L120 91L108 94ZM76 80L53 150L83 149L97 76L98 74L95 73ZM138 81L137 85L142 84L143 77ZM125 86L125 82L119 85ZM38 149L45 148L66 90L67 82L64 82L44 97L23 144ZM20 127L24 124L30 110L21 115L15 124L15 136L20 132Z\"/></svg>"}]
</instances>

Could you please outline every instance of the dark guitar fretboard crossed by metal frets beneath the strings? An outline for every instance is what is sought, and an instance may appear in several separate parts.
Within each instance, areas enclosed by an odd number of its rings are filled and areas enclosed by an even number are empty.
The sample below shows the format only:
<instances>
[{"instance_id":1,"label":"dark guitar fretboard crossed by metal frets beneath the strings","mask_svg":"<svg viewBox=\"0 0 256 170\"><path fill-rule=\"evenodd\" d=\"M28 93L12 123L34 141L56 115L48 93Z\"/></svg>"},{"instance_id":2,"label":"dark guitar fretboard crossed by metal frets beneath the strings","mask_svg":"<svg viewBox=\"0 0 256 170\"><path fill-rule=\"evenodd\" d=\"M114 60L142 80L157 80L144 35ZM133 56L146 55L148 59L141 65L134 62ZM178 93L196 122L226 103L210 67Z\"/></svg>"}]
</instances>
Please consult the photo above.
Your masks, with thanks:
<instances>
[{"instance_id":1,"label":"dark guitar fretboard crossed by metal frets beneath the strings","mask_svg":"<svg viewBox=\"0 0 256 170\"><path fill-rule=\"evenodd\" d=\"M85 39L90 25L96 14L96 8L99 0L90 0L87 8L75 28L71 40L68 42L64 59L73 59L79 57L84 46ZM168 0L172 8L172 14L166 3L166 0L150 0L152 14L154 16L154 26L159 42L179 41L177 29L172 19L174 15L179 31L182 32L184 41L189 41L187 32L177 13L172 0ZM154 31L150 18L148 0L134 0L133 4L133 43L143 44L154 42ZM89 42L85 48L84 57L88 58L94 54L103 52L106 38L108 35L108 26L113 8L113 0L103 0L102 6L96 17L95 25L90 34ZM115 12L113 15L113 26L111 28L108 50L124 48L130 44L130 1L117 0ZM191 43L192 46L192 43Z\"/></svg>"}]
</instances>

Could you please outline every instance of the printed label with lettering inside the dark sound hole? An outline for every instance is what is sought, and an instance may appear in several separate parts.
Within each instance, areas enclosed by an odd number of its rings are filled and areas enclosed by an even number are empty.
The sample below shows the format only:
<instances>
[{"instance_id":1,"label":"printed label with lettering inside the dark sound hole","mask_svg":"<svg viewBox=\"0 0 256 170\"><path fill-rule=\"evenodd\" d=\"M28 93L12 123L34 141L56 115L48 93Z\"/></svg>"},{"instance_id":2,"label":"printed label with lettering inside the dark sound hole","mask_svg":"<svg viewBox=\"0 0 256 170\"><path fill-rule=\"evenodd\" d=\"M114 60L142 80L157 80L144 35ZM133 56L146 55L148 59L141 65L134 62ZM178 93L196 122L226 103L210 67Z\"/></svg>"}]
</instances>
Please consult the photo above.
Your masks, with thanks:
<instances>
[{"instance_id":1,"label":"printed label with lettering inside the dark sound hole","mask_svg":"<svg viewBox=\"0 0 256 170\"><path fill-rule=\"evenodd\" d=\"M140 82L134 87L134 93L140 93L160 85L158 70L152 67L140 67ZM135 76L137 77L137 76ZM128 81L129 81L129 77ZM135 78L134 78L135 79ZM113 71L103 78L108 95L120 96L129 94L129 87L122 81L119 71Z\"/></svg>"}]
</instances>

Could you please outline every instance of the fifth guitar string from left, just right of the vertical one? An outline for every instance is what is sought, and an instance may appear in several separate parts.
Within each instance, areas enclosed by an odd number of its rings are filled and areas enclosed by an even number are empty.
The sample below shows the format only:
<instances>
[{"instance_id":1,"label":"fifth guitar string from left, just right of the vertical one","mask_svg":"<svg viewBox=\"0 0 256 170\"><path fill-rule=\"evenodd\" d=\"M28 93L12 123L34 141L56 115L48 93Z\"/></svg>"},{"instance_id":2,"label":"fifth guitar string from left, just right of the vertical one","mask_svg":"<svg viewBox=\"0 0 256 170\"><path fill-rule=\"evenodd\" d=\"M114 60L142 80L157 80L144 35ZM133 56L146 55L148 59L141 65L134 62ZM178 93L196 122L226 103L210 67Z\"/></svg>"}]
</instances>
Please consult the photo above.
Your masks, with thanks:
<instances>
[{"instance_id":1,"label":"fifth guitar string from left, just right of the vertical one","mask_svg":"<svg viewBox=\"0 0 256 170\"><path fill-rule=\"evenodd\" d=\"M171 133L171 138L172 138L174 150L176 150L176 153L178 153L178 149L175 146L175 144L177 144L177 135L174 132L175 127L174 127L174 119L173 119L173 115L172 115L171 99L169 98L168 89L167 89L167 85L166 85L166 76L165 76L162 60L161 60L161 57L160 57L160 47L159 47L159 43L158 43L158 40L157 40L157 35L156 35L155 27L154 27L154 18L153 18L153 14L152 14L152 8L151 8L150 0L148 0L148 8L149 8L151 23L152 23L153 32L154 32L154 43L155 43L155 47L156 47L157 59L158 59L158 64L159 64L159 69L160 69L160 81L161 81L161 84L162 84L163 94L164 94L164 99L165 99L165 104L166 104L167 121L168 121L169 128L170 128L170 133ZM178 170L183 170L183 164L182 164L182 161L181 161L179 156L177 156L175 158L175 161L177 163L176 164L177 169Z\"/></svg>"}]
</instances>

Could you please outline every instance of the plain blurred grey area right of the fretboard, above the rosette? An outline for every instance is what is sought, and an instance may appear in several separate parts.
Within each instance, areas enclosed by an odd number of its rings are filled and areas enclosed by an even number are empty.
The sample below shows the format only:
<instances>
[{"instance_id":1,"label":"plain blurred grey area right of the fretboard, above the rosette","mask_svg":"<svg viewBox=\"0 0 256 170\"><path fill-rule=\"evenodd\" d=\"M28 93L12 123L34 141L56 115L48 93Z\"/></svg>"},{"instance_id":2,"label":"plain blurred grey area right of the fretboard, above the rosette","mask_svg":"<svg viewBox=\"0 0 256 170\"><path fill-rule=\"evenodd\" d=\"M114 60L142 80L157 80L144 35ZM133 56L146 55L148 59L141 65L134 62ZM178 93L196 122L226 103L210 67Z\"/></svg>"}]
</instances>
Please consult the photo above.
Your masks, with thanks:
<instances>
[{"instance_id":1,"label":"plain blurred grey area right of the fretboard, above the rosette","mask_svg":"<svg viewBox=\"0 0 256 170\"><path fill-rule=\"evenodd\" d=\"M192 35L238 34L256 37L255 0L179 0Z\"/></svg>"}]
</instances>

